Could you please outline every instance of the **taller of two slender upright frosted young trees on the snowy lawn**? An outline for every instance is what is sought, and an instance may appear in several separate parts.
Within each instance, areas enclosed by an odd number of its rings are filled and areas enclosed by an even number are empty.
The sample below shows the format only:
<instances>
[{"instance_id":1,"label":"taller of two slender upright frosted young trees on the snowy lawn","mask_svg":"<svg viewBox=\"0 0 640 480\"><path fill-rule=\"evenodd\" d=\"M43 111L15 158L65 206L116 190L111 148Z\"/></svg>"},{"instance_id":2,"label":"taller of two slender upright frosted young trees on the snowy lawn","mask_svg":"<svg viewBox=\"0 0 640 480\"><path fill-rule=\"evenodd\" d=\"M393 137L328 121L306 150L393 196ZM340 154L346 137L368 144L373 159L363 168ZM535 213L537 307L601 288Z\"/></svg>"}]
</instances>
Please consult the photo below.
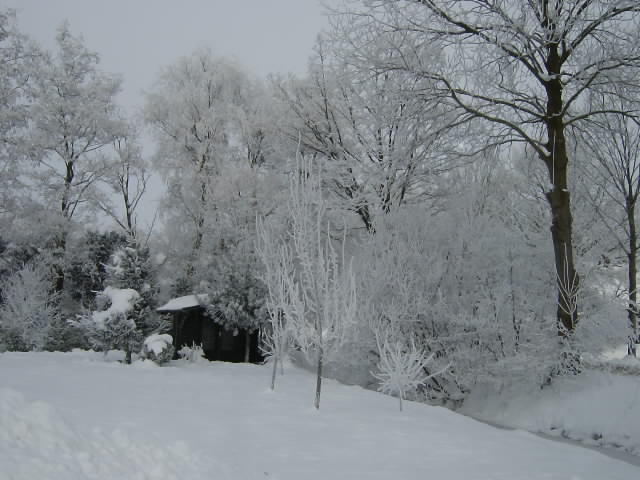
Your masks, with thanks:
<instances>
[{"instance_id":1,"label":"taller of two slender upright frosted young trees on the snowy lawn","mask_svg":"<svg viewBox=\"0 0 640 480\"><path fill-rule=\"evenodd\" d=\"M270 305L270 318L273 322L284 316L292 341L315 364L314 405L320 408L324 365L355 323L356 283L351 261L345 255L346 235L338 246L334 245L320 176L308 162L300 162L291 175L287 207L289 240L284 241L290 241L290 245L281 251L290 256L288 261L295 269L266 277L275 283L269 286L270 300L281 302ZM263 236L262 241L270 240ZM284 269L286 264L271 267ZM278 282L284 283L286 294L274 295L281 288Z\"/></svg>"}]
</instances>

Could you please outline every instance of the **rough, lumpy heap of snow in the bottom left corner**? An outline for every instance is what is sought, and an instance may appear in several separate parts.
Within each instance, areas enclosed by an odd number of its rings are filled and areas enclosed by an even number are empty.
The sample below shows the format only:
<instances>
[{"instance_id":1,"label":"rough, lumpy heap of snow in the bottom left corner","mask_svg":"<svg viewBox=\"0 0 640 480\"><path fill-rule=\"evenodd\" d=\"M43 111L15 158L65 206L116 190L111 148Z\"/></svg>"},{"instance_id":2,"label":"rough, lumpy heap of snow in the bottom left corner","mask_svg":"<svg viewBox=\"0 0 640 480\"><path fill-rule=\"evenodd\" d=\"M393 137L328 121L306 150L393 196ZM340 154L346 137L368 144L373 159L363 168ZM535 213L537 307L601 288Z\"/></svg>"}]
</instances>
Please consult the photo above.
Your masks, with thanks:
<instances>
[{"instance_id":1,"label":"rough, lumpy heap of snow in the bottom left corner","mask_svg":"<svg viewBox=\"0 0 640 480\"><path fill-rule=\"evenodd\" d=\"M49 404L0 389L0 478L173 480L196 475L186 444L158 447L120 430L80 432Z\"/></svg>"}]
</instances>

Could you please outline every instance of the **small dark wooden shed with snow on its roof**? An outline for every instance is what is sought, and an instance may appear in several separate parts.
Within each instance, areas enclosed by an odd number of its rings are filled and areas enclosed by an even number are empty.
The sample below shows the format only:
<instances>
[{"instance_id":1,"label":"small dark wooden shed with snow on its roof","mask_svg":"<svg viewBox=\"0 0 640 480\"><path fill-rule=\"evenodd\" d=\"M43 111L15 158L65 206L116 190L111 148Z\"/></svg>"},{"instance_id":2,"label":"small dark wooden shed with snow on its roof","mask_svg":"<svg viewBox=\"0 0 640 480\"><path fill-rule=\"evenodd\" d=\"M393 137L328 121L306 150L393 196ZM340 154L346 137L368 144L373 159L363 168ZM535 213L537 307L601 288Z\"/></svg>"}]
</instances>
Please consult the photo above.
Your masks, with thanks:
<instances>
[{"instance_id":1,"label":"small dark wooden shed with snow on its roof","mask_svg":"<svg viewBox=\"0 0 640 480\"><path fill-rule=\"evenodd\" d=\"M187 295L169 300L157 309L168 314L170 334L176 352L183 346L201 345L208 360L223 362L261 362L259 332L226 329L207 314L209 298L205 294ZM177 353L176 353L177 355Z\"/></svg>"}]
</instances>

